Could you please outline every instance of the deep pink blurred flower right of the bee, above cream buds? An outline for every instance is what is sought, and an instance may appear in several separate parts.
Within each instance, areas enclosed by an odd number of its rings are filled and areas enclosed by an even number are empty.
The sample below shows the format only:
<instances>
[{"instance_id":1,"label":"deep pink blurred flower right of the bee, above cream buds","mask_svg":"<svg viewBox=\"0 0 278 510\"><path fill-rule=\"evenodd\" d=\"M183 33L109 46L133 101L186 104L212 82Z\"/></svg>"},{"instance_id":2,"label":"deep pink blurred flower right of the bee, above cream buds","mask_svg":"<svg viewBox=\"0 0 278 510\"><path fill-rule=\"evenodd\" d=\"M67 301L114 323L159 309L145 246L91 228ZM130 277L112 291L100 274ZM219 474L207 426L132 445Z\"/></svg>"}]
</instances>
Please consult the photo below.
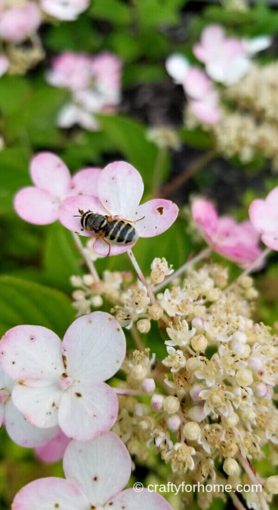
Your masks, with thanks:
<instances>
[{"instance_id":1,"label":"deep pink blurred flower right of the bee, above cream buds","mask_svg":"<svg viewBox=\"0 0 278 510\"><path fill-rule=\"evenodd\" d=\"M243 269L262 253L259 235L249 221L238 223L230 216L219 217L212 203L205 199L194 200L191 212L200 233L212 249Z\"/></svg>"}]
</instances>

